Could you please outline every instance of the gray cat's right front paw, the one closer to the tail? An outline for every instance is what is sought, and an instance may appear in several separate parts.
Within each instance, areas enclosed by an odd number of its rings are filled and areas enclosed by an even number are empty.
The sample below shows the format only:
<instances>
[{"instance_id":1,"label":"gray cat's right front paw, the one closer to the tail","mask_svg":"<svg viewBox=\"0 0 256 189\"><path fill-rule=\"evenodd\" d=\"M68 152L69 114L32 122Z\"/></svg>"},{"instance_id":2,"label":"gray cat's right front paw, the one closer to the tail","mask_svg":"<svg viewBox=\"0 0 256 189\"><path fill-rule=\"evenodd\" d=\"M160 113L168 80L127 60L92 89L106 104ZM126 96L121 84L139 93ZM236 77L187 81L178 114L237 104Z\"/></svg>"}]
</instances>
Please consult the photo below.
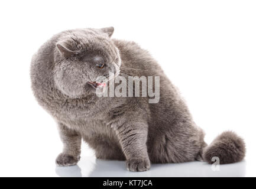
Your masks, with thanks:
<instances>
[{"instance_id":1,"label":"gray cat's right front paw, the one closer to the tail","mask_svg":"<svg viewBox=\"0 0 256 189\"><path fill-rule=\"evenodd\" d=\"M131 158L127 160L128 171L147 171L150 169L148 158Z\"/></svg>"}]
</instances>

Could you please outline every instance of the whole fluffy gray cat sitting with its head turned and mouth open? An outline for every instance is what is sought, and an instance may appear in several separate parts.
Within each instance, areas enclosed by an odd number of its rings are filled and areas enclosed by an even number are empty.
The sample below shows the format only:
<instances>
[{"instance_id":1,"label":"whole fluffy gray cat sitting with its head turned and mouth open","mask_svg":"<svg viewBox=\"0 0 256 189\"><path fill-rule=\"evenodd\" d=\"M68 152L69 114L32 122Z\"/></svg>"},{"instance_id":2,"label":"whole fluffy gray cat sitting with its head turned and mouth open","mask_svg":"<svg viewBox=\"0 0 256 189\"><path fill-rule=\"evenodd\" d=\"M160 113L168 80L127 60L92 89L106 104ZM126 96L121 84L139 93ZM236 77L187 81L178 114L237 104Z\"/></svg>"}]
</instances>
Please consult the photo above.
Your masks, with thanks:
<instances>
[{"instance_id":1,"label":"whole fluffy gray cat sitting with its head turned and mouth open","mask_svg":"<svg viewBox=\"0 0 256 189\"><path fill-rule=\"evenodd\" d=\"M63 152L60 166L80 159L82 139L97 158L126 160L129 171L152 163L241 161L245 143L223 132L212 144L193 122L177 89L150 54L134 42L111 39L113 27L60 32L43 44L31 63L32 89L38 103L57 121ZM160 76L160 99L99 97L99 76L107 84L121 76ZM155 88L155 87L154 87ZM141 88L140 88L141 89Z\"/></svg>"}]
</instances>

